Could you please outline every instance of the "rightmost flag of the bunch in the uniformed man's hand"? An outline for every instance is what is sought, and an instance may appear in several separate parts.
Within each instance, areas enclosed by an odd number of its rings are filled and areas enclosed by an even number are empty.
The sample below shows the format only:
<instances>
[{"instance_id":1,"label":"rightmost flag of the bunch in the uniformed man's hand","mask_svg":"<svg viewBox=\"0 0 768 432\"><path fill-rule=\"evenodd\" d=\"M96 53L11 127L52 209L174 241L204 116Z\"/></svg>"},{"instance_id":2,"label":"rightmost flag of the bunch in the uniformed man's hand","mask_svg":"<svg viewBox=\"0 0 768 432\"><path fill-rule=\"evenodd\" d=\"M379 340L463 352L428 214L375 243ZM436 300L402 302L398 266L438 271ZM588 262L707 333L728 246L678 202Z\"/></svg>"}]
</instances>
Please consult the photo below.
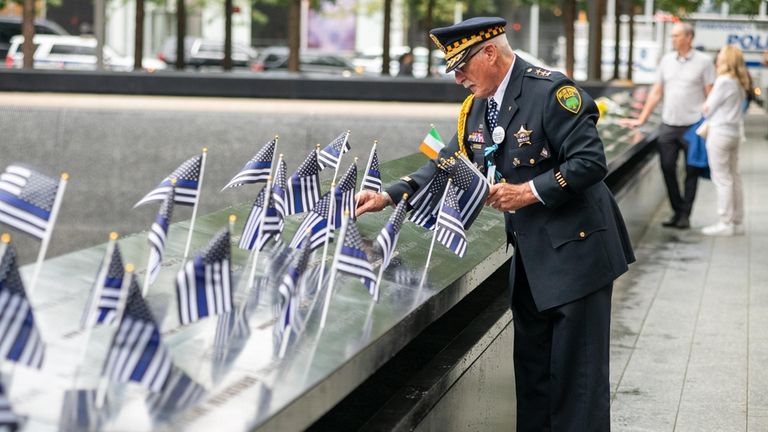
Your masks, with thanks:
<instances>
[{"instance_id":1,"label":"rightmost flag of the bunch in the uniformed man's hand","mask_svg":"<svg viewBox=\"0 0 768 432\"><path fill-rule=\"evenodd\" d=\"M468 230L483 209L490 185L470 161L461 156L449 169L451 184L458 189L457 202L464 230Z\"/></svg>"}]
</instances>

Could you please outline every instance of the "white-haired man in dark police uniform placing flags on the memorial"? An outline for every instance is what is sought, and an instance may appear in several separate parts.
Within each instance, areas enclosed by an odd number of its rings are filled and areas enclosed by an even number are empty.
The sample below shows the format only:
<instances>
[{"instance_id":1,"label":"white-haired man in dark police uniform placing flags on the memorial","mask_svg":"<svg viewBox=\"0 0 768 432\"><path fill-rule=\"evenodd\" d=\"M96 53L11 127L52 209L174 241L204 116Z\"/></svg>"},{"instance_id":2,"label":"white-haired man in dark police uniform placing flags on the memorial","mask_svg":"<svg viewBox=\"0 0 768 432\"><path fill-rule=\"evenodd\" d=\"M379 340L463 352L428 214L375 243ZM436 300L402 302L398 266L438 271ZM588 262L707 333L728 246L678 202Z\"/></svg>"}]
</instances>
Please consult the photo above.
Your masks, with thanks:
<instances>
[{"instance_id":1,"label":"white-haired man in dark police uniform placing flags on the memorial","mask_svg":"<svg viewBox=\"0 0 768 432\"><path fill-rule=\"evenodd\" d=\"M611 290L634 255L603 183L607 168L592 99L564 75L509 47L501 18L431 31L448 71L470 95L441 151L497 172L487 205L504 212L519 431L610 429ZM357 214L413 196L432 162L385 193L361 192Z\"/></svg>"}]
</instances>

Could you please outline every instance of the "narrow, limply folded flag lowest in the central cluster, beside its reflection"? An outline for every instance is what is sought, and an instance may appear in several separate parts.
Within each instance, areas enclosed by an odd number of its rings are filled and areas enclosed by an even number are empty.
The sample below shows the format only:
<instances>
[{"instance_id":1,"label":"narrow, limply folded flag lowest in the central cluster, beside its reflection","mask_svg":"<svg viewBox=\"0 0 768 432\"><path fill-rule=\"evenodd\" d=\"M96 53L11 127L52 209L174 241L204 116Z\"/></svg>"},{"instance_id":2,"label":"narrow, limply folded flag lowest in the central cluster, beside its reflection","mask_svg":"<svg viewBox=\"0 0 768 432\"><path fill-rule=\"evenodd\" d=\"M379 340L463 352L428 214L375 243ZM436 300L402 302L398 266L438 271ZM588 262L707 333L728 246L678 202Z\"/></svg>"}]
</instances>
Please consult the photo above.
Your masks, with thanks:
<instances>
[{"instance_id":1,"label":"narrow, limply folded flag lowest in the central cluster, beside its reflection","mask_svg":"<svg viewBox=\"0 0 768 432\"><path fill-rule=\"evenodd\" d=\"M277 289L280 298L278 304L279 314L277 324L275 324L275 336L280 341L278 345L281 347L286 345L288 341L286 338L290 338L292 332L299 334L302 328L299 319L298 285L304 270L307 268L309 254L312 252L309 242L310 238L305 236L300 249L294 252L291 265L285 272L283 280ZM285 348L282 348L280 350L281 357L284 352Z\"/></svg>"}]
</instances>

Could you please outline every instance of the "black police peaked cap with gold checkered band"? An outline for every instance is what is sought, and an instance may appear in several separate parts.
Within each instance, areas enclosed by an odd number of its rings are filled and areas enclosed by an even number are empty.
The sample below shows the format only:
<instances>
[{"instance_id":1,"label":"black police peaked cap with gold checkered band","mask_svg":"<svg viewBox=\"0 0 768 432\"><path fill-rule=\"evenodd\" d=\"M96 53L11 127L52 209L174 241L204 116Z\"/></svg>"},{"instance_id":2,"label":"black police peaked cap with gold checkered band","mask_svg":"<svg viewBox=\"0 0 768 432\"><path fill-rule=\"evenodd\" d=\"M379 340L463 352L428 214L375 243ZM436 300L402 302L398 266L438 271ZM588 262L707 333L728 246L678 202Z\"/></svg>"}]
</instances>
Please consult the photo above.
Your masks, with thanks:
<instances>
[{"instance_id":1,"label":"black police peaked cap with gold checkered band","mask_svg":"<svg viewBox=\"0 0 768 432\"><path fill-rule=\"evenodd\" d=\"M446 72L450 72L469 55L470 48L504 33L507 21L499 17L476 17L450 27L432 29L429 37L445 54Z\"/></svg>"}]
</instances>

